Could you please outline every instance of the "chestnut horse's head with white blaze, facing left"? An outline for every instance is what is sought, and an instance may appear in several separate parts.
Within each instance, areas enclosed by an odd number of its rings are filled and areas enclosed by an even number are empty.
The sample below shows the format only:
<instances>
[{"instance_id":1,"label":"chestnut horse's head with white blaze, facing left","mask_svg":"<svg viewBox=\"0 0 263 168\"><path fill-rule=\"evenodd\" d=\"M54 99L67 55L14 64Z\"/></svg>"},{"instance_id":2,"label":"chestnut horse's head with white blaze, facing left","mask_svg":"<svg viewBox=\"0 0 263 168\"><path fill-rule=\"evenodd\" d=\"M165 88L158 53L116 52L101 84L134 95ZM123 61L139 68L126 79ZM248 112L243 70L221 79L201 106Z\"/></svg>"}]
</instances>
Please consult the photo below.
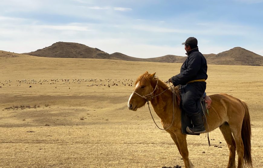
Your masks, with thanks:
<instances>
[{"instance_id":1,"label":"chestnut horse's head with white blaze, facing left","mask_svg":"<svg viewBox=\"0 0 263 168\"><path fill-rule=\"evenodd\" d=\"M146 99L142 96L145 96L154 91L155 84L153 84L154 74L149 74L146 71L144 74L140 75L135 81L134 92L132 92L129 100L128 100L128 108L129 110L136 111L137 108L144 106L146 103ZM153 86L154 85L154 86ZM141 96L139 96L139 95Z\"/></svg>"}]
</instances>

